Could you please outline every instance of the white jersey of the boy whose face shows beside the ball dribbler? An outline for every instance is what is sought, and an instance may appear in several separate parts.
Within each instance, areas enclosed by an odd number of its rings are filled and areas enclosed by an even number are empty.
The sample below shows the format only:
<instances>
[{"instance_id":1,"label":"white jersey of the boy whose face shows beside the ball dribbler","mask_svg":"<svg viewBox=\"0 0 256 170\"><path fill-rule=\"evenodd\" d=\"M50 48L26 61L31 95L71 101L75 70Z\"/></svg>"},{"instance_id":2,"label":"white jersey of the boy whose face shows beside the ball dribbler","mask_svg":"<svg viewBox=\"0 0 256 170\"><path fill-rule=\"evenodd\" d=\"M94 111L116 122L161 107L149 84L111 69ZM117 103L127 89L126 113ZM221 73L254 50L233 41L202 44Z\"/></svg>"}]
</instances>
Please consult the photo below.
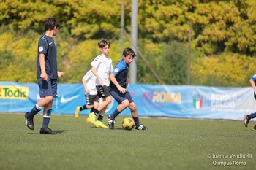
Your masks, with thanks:
<instances>
[{"instance_id":1,"label":"white jersey of the boy whose face shows beside the ball dribbler","mask_svg":"<svg viewBox=\"0 0 256 170\"><path fill-rule=\"evenodd\" d=\"M91 66L97 69L97 74L104 82L104 85L109 86L109 74L113 72L112 60L109 57L101 54L98 55L94 61L91 62ZM96 85L100 85L99 80L96 79Z\"/></svg>"}]
</instances>

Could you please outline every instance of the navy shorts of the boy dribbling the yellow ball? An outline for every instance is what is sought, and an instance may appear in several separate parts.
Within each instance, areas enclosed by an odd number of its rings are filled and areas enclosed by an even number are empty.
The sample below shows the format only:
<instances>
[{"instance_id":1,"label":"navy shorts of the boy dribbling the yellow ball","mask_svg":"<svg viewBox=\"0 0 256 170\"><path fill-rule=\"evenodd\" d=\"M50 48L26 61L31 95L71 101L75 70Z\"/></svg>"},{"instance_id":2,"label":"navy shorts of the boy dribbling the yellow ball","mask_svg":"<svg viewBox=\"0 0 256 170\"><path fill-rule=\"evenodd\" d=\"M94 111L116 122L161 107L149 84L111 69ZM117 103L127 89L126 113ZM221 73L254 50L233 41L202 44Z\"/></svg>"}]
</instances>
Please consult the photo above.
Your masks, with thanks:
<instances>
[{"instance_id":1,"label":"navy shorts of the boy dribbling the yellow ball","mask_svg":"<svg viewBox=\"0 0 256 170\"><path fill-rule=\"evenodd\" d=\"M110 95L115 98L118 104L121 104L124 100L128 99L129 103L134 102L132 95L127 91L127 93L121 93L117 88L108 88Z\"/></svg>"}]
</instances>

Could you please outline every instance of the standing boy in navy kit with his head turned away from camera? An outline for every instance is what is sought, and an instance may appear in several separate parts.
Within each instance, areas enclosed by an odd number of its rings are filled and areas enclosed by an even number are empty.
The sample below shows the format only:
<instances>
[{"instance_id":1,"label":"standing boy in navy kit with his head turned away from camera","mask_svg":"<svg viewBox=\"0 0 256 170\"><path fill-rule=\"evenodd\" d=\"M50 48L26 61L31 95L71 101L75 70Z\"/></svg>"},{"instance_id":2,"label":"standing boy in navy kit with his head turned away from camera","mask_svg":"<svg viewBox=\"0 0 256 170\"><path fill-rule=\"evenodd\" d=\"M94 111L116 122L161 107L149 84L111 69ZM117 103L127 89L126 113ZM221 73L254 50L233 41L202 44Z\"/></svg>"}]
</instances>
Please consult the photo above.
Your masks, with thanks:
<instances>
[{"instance_id":1,"label":"standing boy in navy kit with his head turned away from camera","mask_svg":"<svg viewBox=\"0 0 256 170\"><path fill-rule=\"evenodd\" d=\"M26 112L26 125L34 130L34 115L43 110L43 121L40 134L56 134L48 128L52 112L53 98L57 95L57 77L64 76L63 72L57 71L57 46L53 40L59 29L59 21L56 18L45 20L45 34L38 42L37 48L37 81L39 85L39 95L42 98L37 104Z\"/></svg>"}]
</instances>

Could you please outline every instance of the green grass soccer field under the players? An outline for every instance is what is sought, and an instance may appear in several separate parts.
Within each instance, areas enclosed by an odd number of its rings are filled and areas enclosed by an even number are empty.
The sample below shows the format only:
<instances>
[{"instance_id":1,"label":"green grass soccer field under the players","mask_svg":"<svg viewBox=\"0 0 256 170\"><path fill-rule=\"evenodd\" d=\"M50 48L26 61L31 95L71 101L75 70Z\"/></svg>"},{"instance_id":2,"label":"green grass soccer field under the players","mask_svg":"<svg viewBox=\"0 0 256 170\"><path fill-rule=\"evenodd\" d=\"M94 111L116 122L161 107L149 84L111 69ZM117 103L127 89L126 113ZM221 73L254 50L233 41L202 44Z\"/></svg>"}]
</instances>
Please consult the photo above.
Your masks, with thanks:
<instances>
[{"instance_id":1,"label":"green grass soccer field under the players","mask_svg":"<svg viewBox=\"0 0 256 170\"><path fill-rule=\"evenodd\" d=\"M57 134L42 135L42 114L34 131L23 114L0 114L0 169L256 169L255 122L140 117L149 131L125 131L123 118L112 131L86 115L52 115Z\"/></svg>"}]
</instances>

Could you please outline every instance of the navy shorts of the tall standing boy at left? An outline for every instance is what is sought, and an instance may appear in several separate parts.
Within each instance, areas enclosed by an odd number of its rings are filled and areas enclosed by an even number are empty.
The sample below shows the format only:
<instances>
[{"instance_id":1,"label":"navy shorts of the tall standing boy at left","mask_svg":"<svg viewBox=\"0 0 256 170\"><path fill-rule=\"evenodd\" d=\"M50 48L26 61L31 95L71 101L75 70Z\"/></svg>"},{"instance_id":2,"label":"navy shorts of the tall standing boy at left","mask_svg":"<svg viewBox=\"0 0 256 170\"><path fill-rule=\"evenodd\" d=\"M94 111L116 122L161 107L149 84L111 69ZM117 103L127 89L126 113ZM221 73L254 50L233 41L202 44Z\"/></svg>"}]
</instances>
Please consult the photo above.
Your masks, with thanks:
<instances>
[{"instance_id":1,"label":"navy shorts of the tall standing boy at left","mask_svg":"<svg viewBox=\"0 0 256 170\"><path fill-rule=\"evenodd\" d=\"M56 79L42 80L41 78L37 78L37 82L39 85L39 95L41 98L46 96L53 96L54 98L58 97Z\"/></svg>"}]
</instances>

